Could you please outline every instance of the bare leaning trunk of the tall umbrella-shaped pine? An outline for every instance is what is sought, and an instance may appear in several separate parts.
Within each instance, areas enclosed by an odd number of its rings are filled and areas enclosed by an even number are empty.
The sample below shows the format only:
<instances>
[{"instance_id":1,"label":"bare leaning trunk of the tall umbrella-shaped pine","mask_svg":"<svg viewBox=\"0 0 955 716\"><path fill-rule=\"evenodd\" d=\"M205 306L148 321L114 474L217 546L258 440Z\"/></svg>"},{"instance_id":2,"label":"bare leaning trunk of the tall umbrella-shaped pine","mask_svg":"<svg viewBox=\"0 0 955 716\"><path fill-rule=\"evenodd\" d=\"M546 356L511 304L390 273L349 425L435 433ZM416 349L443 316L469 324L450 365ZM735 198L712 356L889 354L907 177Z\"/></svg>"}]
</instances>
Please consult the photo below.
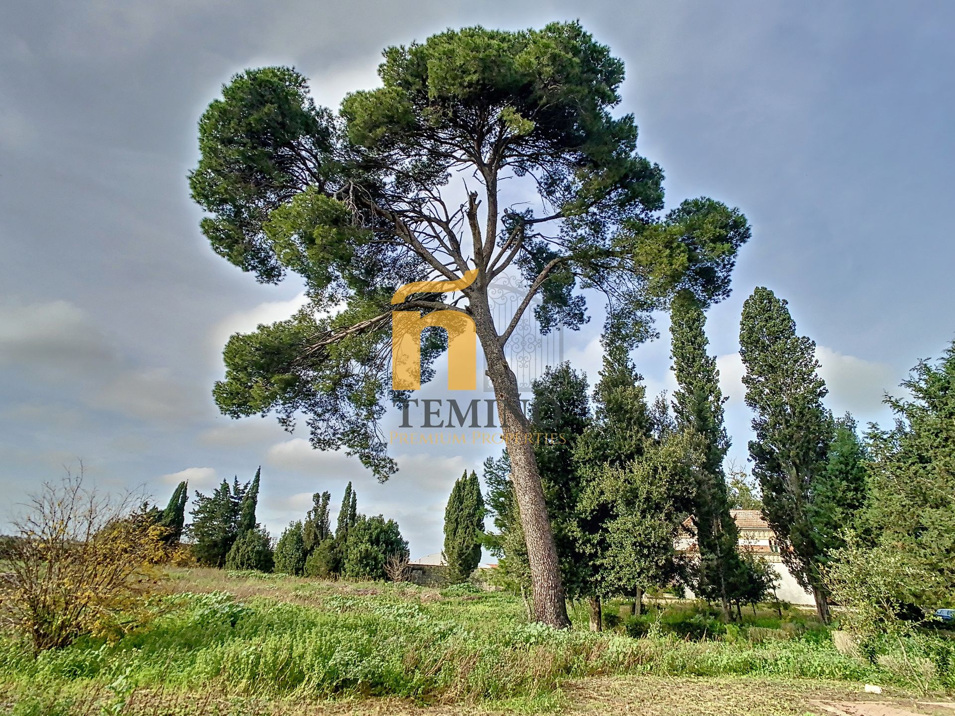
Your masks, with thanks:
<instances>
[{"instance_id":1,"label":"bare leaning trunk of the tall umbrella-shaped pine","mask_svg":"<svg viewBox=\"0 0 955 716\"><path fill-rule=\"evenodd\" d=\"M520 511L520 524L527 543L527 561L531 570L534 618L551 626L570 626L561 582L561 565L557 557L554 534L547 518L541 475L531 447L531 426L520 408L520 390L514 371L507 365L499 344L490 310L478 301L471 302L477 337L487 361L487 374L498 400L501 431L511 458L511 480Z\"/></svg>"}]
</instances>

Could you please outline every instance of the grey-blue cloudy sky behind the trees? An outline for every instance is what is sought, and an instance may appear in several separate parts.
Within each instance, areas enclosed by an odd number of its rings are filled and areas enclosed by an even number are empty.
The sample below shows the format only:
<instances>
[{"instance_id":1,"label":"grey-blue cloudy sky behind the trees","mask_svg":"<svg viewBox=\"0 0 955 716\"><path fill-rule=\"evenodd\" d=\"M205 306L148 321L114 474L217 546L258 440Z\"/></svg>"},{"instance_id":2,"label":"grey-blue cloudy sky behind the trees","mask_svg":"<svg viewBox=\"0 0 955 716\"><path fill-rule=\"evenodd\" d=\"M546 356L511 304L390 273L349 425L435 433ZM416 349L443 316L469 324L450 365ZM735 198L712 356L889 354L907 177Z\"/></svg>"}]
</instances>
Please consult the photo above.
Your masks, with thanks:
<instances>
[{"instance_id":1,"label":"grey-blue cloudy sky behind the trees","mask_svg":"<svg viewBox=\"0 0 955 716\"><path fill-rule=\"evenodd\" d=\"M231 74L294 65L321 104L374 87L381 49L446 27L579 17L626 61L622 111L667 172L668 203L709 195L753 224L732 298L711 311L732 457L750 416L736 350L756 285L817 341L829 406L886 421L883 390L955 335L955 5L945 2L63 2L0 9L0 490L22 499L82 460L165 502L263 466L274 533L309 495L395 517L413 557L440 548L444 499L482 448L394 451L378 485L274 419L210 397L234 331L288 316L301 286L256 284L213 254L185 175L196 122ZM634 355L671 390L664 340ZM596 374L599 321L566 338Z\"/></svg>"}]
</instances>

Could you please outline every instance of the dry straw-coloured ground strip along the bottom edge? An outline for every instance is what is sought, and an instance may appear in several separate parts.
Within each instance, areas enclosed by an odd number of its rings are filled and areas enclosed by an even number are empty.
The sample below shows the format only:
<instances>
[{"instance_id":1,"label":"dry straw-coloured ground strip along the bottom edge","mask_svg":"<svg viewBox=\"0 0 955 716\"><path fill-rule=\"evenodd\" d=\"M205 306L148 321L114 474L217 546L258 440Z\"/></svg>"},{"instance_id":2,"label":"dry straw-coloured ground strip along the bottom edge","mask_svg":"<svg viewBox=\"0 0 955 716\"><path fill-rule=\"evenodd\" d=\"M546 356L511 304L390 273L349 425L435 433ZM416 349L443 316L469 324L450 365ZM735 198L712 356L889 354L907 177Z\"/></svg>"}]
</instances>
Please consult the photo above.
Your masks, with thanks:
<instances>
[{"instance_id":1,"label":"dry straw-coloured ground strip along the bottom edge","mask_svg":"<svg viewBox=\"0 0 955 716\"><path fill-rule=\"evenodd\" d=\"M10 713L11 694L0 699L0 713ZM551 713L566 716L955 716L955 702L939 697L917 699L889 688L866 693L862 684L773 681L745 677L601 677L563 684L553 698L530 703L415 705L396 699L304 702L265 701L202 693L137 690L124 703L112 694L90 692L69 708L76 716L120 713L129 716L497 716ZM105 708L104 708L105 707ZM22 705L20 706L22 709ZM28 709L29 710L29 709ZM26 712L26 711L17 711ZM30 711L31 713L59 712Z\"/></svg>"}]
</instances>

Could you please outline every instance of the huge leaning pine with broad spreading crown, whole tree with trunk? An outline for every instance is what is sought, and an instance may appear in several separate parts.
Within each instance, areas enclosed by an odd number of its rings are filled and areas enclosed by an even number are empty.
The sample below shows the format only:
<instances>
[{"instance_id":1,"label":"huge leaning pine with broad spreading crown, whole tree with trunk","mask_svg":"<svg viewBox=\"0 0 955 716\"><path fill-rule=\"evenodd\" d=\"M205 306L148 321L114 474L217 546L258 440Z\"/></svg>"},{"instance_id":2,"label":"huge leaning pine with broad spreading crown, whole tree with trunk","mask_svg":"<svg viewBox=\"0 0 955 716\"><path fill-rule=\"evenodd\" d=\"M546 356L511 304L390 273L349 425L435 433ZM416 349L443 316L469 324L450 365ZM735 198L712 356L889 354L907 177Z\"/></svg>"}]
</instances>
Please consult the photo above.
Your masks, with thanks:
<instances>
[{"instance_id":1,"label":"huge leaning pine with broad spreading crown, whole tree with trunk","mask_svg":"<svg viewBox=\"0 0 955 716\"><path fill-rule=\"evenodd\" d=\"M220 409L304 414L313 445L348 448L378 477L396 467L377 422L394 397L393 310L473 320L500 425L529 432L507 342L535 296L543 326L578 327L576 289L596 288L607 329L632 338L676 290L725 298L750 236L714 200L662 213L663 170L637 152L633 116L614 113L624 63L579 23L449 30L384 56L383 85L349 93L337 113L289 68L236 75L202 115L190 175L219 255L261 281L295 273L308 286L307 310L232 337ZM515 265L529 289L498 326L489 291ZM399 286L435 279L467 280L465 303L392 305ZM425 351L426 370L441 349ZM567 626L534 455L520 442L509 452L536 617Z\"/></svg>"}]
</instances>

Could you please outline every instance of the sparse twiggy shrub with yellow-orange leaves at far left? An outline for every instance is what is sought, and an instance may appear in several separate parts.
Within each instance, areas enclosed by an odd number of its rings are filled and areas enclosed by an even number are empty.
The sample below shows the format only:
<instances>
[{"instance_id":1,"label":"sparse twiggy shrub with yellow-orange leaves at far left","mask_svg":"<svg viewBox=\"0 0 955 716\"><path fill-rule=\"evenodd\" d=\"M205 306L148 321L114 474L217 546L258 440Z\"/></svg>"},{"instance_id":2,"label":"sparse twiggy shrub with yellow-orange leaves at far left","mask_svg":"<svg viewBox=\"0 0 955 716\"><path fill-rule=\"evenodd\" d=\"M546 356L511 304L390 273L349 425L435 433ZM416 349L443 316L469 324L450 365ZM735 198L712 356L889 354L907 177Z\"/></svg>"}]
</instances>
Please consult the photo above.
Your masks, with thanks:
<instances>
[{"instance_id":1,"label":"sparse twiggy shrub with yellow-orange leaves at far left","mask_svg":"<svg viewBox=\"0 0 955 716\"><path fill-rule=\"evenodd\" d=\"M80 472L45 483L13 518L0 618L34 653L137 622L165 533L137 504L84 489Z\"/></svg>"}]
</instances>

